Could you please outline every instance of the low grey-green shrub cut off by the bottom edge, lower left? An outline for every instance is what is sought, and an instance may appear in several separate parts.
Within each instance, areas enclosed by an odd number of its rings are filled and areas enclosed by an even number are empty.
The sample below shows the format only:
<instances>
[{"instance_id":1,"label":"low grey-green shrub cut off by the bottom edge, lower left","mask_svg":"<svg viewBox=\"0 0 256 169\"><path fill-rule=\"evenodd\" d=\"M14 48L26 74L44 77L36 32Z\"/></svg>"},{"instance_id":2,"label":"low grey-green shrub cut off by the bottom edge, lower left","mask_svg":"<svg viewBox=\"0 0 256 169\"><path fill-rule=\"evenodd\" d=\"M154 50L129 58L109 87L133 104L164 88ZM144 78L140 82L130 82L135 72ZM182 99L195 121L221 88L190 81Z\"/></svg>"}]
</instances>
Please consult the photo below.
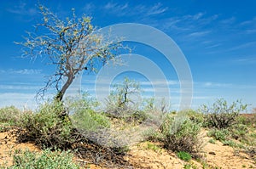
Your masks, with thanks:
<instances>
[{"instance_id":1,"label":"low grey-green shrub cut off by the bottom edge, lower left","mask_svg":"<svg viewBox=\"0 0 256 169\"><path fill-rule=\"evenodd\" d=\"M69 151L61 151L56 149L44 149L42 153L30 152L28 150L17 150L14 155L14 165L9 168L23 169L23 168L71 168L79 169L79 166L73 163L73 155Z\"/></svg>"}]
</instances>

